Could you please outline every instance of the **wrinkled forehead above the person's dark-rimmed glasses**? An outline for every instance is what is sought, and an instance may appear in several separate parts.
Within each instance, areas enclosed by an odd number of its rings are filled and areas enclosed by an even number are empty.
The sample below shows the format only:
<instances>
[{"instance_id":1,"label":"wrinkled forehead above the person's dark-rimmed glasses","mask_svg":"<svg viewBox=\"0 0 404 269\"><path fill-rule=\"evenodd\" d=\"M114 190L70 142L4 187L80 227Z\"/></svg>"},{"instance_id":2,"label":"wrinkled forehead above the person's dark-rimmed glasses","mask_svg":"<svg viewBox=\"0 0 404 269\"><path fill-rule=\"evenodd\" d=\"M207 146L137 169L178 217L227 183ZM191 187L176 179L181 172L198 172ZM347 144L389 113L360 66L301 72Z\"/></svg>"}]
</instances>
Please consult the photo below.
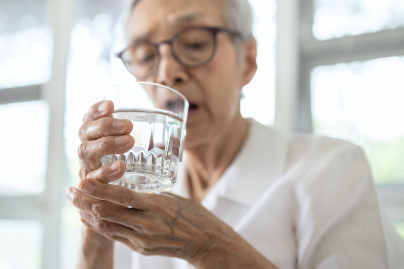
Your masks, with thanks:
<instances>
[{"instance_id":1,"label":"wrinkled forehead above the person's dark-rimmed glasses","mask_svg":"<svg viewBox=\"0 0 404 269\"><path fill-rule=\"evenodd\" d=\"M130 13L129 40L164 37L195 25L226 26L222 0L140 0Z\"/></svg>"}]
</instances>

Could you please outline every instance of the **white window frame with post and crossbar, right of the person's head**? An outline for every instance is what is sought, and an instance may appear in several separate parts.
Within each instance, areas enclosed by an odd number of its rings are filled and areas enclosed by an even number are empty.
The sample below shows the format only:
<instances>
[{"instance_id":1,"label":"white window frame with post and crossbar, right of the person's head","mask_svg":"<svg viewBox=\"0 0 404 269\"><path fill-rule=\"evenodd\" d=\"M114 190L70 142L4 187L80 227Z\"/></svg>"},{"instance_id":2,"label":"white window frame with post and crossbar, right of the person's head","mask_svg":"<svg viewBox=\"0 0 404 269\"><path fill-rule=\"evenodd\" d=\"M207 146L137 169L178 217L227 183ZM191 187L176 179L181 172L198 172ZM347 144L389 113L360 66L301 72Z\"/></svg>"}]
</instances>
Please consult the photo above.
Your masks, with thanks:
<instances>
[{"instance_id":1,"label":"white window frame with post and crossbar, right of the person's head","mask_svg":"<svg viewBox=\"0 0 404 269\"><path fill-rule=\"evenodd\" d=\"M278 1L275 125L285 132L313 132L310 76L313 68L404 55L404 27L317 40L314 0ZM404 184L377 186L392 221L404 221Z\"/></svg>"}]
</instances>

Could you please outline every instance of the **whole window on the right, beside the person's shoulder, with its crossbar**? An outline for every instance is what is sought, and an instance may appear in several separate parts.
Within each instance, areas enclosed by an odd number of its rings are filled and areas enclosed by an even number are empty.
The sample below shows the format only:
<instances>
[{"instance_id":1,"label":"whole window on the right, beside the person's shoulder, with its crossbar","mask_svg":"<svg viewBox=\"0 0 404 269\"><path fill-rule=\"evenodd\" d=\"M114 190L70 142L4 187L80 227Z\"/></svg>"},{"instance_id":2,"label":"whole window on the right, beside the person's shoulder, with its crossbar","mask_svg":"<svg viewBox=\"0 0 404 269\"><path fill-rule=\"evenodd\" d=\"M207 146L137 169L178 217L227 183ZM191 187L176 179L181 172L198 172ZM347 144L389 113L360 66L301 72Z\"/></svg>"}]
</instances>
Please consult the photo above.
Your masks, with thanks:
<instances>
[{"instance_id":1,"label":"whole window on the right, beside the person's shoulder, with its crossbar","mask_svg":"<svg viewBox=\"0 0 404 269\"><path fill-rule=\"evenodd\" d=\"M404 2L300 1L295 130L362 146L379 197L404 221Z\"/></svg>"}]
</instances>

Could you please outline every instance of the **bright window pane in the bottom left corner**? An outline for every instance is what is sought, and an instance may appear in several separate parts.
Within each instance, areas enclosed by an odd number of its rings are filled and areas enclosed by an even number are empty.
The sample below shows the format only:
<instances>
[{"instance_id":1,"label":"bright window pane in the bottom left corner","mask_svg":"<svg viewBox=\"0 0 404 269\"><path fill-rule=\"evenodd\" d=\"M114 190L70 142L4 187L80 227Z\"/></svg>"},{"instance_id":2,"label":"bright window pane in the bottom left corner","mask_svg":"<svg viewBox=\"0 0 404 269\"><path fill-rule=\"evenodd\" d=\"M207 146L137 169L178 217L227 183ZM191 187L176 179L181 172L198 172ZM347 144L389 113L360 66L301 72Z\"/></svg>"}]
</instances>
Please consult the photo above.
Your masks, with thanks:
<instances>
[{"instance_id":1,"label":"bright window pane in the bottom left corner","mask_svg":"<svg viewBox=\"0 0 404 269\"><path fill-rule=\"evenodd\" d=\"M0 220L0 268L40 269L42 227L34 220Z\"/></svg>"}]
</instances>

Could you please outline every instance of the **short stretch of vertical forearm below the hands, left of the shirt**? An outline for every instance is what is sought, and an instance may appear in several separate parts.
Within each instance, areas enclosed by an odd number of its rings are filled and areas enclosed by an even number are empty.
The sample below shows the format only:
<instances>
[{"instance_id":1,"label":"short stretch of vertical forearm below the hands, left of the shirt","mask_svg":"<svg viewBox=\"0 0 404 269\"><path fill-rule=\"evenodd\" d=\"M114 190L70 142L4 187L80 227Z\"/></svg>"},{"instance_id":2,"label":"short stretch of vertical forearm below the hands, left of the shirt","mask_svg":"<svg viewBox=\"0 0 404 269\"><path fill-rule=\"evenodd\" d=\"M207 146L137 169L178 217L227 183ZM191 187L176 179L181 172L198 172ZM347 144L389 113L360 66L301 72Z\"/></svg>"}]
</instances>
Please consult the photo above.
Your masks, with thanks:
<instances>
[{"instance_id":1,"label":"short stretch of vertical forearm below the hands, left of the shirt","mask_svg":"<svg viewBox=\"0 0 404 269\"><path fill-rule=\"evenodd\" d=\"M83 228L83 239L77 269L112 269L114 241Z\"/></svg>"}]
</instances>

